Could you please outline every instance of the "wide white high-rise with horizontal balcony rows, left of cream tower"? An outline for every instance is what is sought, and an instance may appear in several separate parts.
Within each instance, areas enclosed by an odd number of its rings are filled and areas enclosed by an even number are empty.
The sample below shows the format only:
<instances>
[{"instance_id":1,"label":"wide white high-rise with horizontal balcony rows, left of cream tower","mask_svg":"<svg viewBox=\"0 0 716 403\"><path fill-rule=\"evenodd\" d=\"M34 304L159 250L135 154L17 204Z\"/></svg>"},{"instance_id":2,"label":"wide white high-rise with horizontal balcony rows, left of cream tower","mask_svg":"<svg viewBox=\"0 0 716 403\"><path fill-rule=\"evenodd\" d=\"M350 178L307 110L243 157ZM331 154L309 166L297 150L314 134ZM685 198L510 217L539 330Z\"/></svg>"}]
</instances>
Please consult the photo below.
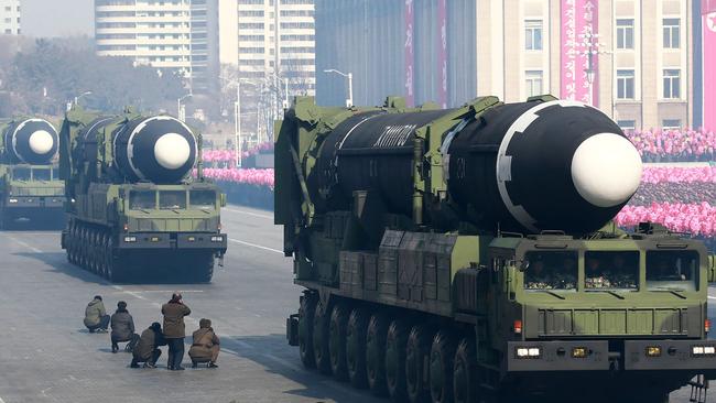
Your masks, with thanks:
<instances>
[{"instance_id":1,"label":"wide white high-rise with horizontal balcony rows, left of cream tower","mask_svg":"<svg viewBox=\"0 0 716 403\"><path fill-rule=\"evenodd\" d=\"M100 56L182 72L192 87L210 87L218 75L217 0L95 0Z\"/></svg>"}]
</instances>

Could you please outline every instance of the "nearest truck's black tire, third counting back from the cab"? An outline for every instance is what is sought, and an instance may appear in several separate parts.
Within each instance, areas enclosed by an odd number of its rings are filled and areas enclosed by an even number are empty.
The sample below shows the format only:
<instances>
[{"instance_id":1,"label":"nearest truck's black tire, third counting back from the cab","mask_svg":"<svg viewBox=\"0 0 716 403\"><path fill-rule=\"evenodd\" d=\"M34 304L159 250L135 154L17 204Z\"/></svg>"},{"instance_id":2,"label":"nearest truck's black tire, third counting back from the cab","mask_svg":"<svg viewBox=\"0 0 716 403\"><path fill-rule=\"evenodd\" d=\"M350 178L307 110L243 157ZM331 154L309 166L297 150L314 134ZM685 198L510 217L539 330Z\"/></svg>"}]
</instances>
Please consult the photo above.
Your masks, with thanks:
<instances>
[{"instance_id":1,"label":"nearest truck's black tire, third counting back from the cab","mask_svg":"<svg viewBox=\"0 0 716 403\"><path fill-rule=\"evenodd\" d=\"M411 328L405 346L405 386L412 403L430 401L430 390L424 379L425 358L430 357L433 333L424 325Z\"/></svg>"}]
</instances>

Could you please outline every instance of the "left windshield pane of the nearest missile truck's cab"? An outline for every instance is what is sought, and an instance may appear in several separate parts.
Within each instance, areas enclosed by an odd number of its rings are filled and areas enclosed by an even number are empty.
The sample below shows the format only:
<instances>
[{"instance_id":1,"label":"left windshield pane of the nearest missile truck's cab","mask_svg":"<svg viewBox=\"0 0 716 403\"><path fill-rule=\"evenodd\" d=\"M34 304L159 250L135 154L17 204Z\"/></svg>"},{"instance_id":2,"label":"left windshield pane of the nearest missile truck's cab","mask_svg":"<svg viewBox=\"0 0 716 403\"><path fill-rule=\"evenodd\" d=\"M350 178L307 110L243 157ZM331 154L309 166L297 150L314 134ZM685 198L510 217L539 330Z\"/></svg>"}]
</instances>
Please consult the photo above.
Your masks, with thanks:
<instances>
[{"instance_id":1,"label":"left windshield pane of the nearest missile truck's cab","mask_svg":"<svg viewBox=\"0 0 716 403\"><path fill-rule=\"evenodd\" d=\"M524 288L576 290L577 252L527 252L529 266L524 273Z\"/></svg>"}]
</instances>

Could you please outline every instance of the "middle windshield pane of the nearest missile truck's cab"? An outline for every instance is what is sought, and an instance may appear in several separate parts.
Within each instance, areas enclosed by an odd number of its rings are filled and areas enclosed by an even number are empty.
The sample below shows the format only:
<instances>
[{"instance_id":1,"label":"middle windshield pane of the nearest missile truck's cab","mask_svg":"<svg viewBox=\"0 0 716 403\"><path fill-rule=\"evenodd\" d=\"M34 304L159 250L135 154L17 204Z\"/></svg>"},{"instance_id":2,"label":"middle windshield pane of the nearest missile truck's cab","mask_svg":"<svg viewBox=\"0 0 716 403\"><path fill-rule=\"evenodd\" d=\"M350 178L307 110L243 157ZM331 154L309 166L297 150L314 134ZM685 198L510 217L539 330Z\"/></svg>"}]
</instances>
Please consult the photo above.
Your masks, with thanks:
<instances>
[{"instance_id":1,"label":"middle windshield pane of the nearest missile truck's cab","mask_svg":"<svg viewBox=\"0 0 716 403\"><path fill-rule=\"evenodd\" d=\"M584 253L585 288L638 290L639 252L595 252Z\"/></svg>"}]
</instances>

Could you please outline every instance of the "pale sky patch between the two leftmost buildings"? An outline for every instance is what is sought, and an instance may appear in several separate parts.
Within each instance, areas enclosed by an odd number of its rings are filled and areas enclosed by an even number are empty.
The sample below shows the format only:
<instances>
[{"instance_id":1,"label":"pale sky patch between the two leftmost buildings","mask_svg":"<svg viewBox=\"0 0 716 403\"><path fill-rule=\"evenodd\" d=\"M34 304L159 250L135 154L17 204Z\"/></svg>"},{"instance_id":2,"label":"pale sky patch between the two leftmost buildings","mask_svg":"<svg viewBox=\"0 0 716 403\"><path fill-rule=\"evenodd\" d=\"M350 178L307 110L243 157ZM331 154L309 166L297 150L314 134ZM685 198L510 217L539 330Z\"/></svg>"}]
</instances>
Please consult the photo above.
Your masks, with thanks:
<instances>
[{"instance_id":1,"label":"pale sky patch between the two leftmost buildings","mask_svg":"<svg viewBox=\"0 0 716 403\"><path fill-rule=\"evenodd\" d=\"M29 36L94 35L94 0L21 0Z\"/></svg>"}]
</instances>

